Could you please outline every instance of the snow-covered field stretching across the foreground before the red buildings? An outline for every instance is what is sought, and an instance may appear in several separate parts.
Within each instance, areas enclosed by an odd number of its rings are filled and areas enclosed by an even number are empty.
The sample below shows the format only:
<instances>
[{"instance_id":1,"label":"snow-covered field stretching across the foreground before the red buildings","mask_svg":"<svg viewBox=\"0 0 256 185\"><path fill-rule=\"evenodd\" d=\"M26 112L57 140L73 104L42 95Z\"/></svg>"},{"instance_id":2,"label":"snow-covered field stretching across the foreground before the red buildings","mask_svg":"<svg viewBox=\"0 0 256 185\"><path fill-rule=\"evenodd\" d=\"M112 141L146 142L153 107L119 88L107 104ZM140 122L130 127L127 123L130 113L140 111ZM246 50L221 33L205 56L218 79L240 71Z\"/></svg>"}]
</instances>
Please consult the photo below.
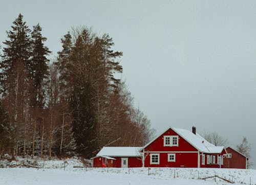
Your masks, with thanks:
<instances>
[{"instance_id":1,"label":"snow-covered field stretching across the foreground before the red buildings","mask_svg":"<svg viewBox=\"0 0 256 185\"><path fill-rule=\"evenodd\" d=\"M19 161L17 161L18 163ZM73 168L82 166L79 159L47 160L44 169L2 168L0 184L230 184L209 177L215 174L233 184L256 184L256 170L197 168ZM15 163L13 161L13 163ZM36 161L42 167L42 160Z\"/></svg>"}]
</instances>

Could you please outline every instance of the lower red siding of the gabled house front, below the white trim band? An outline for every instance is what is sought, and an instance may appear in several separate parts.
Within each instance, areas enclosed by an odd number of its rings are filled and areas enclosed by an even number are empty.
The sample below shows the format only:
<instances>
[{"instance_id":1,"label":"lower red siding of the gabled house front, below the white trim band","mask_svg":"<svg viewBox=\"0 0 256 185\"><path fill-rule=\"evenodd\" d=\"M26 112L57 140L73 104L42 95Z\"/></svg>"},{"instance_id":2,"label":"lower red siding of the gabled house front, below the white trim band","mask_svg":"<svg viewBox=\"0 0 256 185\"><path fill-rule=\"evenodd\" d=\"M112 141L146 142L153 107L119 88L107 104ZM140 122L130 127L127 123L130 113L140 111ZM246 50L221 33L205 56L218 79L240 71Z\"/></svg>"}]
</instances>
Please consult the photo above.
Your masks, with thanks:
<instances>
[{"instance_id":1,"label":"lower red siding of the gabled house front, below the white trim band","mask_svg":"<svg viewBox=\"0 0 256 185\"><path fill-rule=\"evenodd\" d=\"M159 153L159 165L151 165L150 154L148 154L145 158L144 167L197 168L197 156L198 153L176 153L175 162L168 162L168 153Z\"/></svg>"}]
</instances>

